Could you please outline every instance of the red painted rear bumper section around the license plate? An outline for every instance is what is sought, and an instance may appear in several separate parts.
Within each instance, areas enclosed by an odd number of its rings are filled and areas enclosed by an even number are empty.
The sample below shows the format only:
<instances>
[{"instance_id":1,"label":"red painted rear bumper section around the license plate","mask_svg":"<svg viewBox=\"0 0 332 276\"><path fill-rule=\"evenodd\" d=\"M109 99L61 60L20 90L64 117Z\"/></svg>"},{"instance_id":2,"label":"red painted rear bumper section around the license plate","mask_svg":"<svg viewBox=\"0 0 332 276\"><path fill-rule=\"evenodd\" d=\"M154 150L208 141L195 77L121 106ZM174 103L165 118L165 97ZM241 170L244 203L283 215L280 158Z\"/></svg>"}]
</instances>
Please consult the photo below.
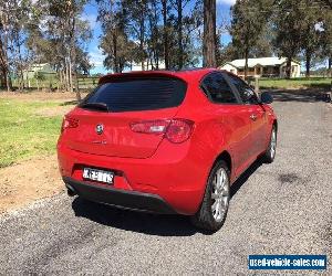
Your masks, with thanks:
<instances>
[{"instance_id":1,"label":"red painted rear bumper section around the license plate","mask_svg":"<svg viewBox=\"0 0 332 276\"><path fill-rule=\"evenodd\" d=\"M58 159L63 178L85 183L82 178L84 167L111 170L115 173L113 189L154 194L176 213L193 215L200 206L210 167L206 149L200 148L188 149L188 145L165 141L151 158L135 159L80 152L60 141Z\"/></svg>"}]
</instances>

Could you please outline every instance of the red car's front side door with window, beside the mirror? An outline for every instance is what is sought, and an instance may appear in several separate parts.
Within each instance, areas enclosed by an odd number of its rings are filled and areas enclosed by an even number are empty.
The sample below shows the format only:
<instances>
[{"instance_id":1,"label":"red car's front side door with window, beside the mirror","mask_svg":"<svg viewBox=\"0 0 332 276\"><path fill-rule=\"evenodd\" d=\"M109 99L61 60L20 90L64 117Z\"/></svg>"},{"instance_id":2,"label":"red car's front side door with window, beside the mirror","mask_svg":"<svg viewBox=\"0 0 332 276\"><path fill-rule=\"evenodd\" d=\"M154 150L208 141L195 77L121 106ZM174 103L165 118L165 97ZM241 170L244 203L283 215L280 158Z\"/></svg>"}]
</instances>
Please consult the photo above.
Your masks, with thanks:
<instances>
[{"instance_id":1,"label":"red car's front side door with window, beside the mirror","mask_svg":"<svg viewBox=\"0 0 332 276\"><path fill-rule=\"evenodd\" d=\"M259 104L259 99L253 89L241 78L228 74L230 82L236 86L240 94L242 104L247 106L249 110L249 118L251 120L251 132L252 132L252 148L250 155L256 158L260 155L266 147L267 139L267 116L266 109Z\"/></svg>"}]
</instances>

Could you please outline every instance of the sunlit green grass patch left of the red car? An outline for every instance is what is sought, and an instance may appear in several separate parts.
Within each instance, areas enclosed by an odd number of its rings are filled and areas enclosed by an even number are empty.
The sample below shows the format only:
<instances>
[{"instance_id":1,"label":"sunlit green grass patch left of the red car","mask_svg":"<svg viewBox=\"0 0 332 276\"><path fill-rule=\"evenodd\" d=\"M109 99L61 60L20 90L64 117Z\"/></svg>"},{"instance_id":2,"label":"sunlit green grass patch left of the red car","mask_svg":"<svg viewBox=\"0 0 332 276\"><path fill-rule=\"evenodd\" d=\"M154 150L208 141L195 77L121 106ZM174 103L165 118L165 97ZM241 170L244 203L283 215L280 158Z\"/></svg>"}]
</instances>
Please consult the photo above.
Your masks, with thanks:
<instances>
[{"instance_id":1,"label":"sunlit green grass patch left of the red car","mask_svg":"<svg viewBox=\"0 0 332 276\"><path fill-rule=\"evenodd\" d=\"M59 105L0 99L0 168L55 152L62 117L35 113Z\"/></svg>"}]
</instances>

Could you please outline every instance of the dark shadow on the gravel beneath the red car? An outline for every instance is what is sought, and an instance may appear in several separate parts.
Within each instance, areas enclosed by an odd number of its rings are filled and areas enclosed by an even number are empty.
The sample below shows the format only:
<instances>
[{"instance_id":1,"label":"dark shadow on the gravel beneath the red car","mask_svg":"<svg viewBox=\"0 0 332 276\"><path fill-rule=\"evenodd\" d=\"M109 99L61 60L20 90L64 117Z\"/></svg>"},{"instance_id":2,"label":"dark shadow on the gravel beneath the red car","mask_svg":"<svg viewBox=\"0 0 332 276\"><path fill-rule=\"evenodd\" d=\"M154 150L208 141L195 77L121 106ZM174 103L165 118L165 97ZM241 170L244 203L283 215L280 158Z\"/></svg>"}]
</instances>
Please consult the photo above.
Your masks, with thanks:
<instances>
[{"instance_id":1,"label":"dark shadow on the gravel beneath the red car","mask_svg":"<svg viewBox=\"0 0 332 276\"><path fill-rule=\"evenodd\" d=\"M248 178L261 166L255 162L249 169L231 185L231 198L246 183ZM75 216L85 217L105 226L116 227L125 231L144 233L158 236L191 236L196 233L205 235L211 232L195 227L188 216L151 214L121 210L76 197L72 202ZM220 230L222 231L222 229Z\"/></svg>"}]
</instances>

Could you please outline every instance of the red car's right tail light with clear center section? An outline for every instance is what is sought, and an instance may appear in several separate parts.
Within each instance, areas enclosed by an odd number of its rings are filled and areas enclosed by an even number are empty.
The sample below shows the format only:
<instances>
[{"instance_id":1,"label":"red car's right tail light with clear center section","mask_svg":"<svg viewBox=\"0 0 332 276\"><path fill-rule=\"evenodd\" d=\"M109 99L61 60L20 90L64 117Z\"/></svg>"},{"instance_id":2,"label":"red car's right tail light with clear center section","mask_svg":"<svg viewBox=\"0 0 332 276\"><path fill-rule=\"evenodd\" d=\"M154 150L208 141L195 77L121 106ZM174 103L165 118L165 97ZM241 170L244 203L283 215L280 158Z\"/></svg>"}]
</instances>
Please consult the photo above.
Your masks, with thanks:
<instances>
[{"instance_id":1,"label":"red car's right tail light with clear center section","mask_svg":"<svg viewBox=\"0 0 332 276\"><path fill-rule=\"evenodd\" d=\"M187 119L146 120L131 125L134 132L164 135L175 144L188 140L193 127L194 121Z\"/></svg>"}]
</instances>

